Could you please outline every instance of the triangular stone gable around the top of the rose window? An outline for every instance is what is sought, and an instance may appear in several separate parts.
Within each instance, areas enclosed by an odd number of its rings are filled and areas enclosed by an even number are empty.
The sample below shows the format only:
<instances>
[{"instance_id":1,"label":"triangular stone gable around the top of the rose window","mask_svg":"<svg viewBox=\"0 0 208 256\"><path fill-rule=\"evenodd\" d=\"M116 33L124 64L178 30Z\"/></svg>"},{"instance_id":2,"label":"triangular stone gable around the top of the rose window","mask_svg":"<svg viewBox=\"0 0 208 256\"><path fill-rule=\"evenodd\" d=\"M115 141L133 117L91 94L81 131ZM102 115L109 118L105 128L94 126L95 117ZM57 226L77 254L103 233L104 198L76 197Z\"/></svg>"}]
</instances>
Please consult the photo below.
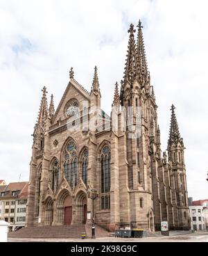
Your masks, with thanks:
<instances>
[{"instance_id":1,"label":"triangular stone gable around the top of the rose window","mask_svg":"<svg viewBox=\"0 0 208 256\"><path fill-rule=\"evenodd\" d=\"M65 120L67 117L65 115L65 108L67 106L67 103L71 99L76 99L78 102L78 108L80 111L83 109L83 102L88 101L90 102L89 93L83 86L80 86L78 82L71 79L69 81L69 84L67 86L67 89L64 92L64 95L62 96L62 99L60 101L60 104L58 105L58 108L55 111L55 114L53 116L52 123L58 122L58 120Z\"/></svg>"}]
</instances>

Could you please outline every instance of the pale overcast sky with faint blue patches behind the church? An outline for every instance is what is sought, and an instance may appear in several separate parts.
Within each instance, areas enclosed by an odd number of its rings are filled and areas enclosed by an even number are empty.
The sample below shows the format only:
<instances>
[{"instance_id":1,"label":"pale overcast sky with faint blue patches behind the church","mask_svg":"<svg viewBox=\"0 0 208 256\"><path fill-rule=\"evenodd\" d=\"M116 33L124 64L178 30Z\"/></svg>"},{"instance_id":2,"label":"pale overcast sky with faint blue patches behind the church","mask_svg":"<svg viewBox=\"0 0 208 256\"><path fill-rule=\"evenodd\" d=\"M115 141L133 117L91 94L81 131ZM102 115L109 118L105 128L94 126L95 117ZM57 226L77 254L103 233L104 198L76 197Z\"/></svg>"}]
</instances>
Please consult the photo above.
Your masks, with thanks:
<instances>
[{"instance_id":1,"label":"pale overcast sky with faint blue patches behind the church","mask_svg":"<svg viewBox=\"0 0 208 256\"><path fill-rule=\"evenodd\" d=\"M110 113L128 27L140 18L162 150L175 104L189 196L208 198L207 10L207 0L0 0L0 179L28 180L41 90L54 94L57 107L71 66L87 90L98 66L102 108Z\"/></svg>"}]
</instances>

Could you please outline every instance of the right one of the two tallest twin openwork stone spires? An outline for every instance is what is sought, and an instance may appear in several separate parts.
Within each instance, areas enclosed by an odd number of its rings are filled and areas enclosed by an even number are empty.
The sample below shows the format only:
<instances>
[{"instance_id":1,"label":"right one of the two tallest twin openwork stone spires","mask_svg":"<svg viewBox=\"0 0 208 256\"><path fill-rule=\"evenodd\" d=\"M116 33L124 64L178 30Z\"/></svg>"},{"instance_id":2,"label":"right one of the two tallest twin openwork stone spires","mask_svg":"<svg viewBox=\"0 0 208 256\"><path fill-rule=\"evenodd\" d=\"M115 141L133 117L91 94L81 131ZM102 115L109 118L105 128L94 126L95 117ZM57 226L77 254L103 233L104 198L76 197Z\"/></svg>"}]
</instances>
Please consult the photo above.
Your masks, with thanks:
<instances>
[{"instance_id":1,"label":"right one of the two tallest twin openwork stone spires","mask_svg":"<svg viewBox=\"0 0 208 256\"><path fill-rule=\"evenodd\" d=\"M141 21L139 19L139 24L137 26L138 29L138 35L137 35L137 58L138 58L138 65L139 65L139 73L141 72L141 75L146 79L146 76L148 74L148 66L146 63L146 51L144 47L144 38L142 33Z\"/></svg>"}]
</instances>

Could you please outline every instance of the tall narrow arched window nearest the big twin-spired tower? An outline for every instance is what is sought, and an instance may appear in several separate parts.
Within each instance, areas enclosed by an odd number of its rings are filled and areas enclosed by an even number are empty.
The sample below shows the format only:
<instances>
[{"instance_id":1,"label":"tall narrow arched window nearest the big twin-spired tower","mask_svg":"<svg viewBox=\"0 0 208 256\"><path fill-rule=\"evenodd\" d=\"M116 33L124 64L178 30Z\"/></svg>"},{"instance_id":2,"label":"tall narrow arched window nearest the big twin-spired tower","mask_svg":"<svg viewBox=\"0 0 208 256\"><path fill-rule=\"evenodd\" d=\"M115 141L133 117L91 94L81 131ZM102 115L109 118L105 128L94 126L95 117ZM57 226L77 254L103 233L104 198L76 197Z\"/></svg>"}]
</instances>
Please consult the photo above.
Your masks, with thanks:
<instances>
[{"instance_id":1,"label":"tall narrow arched window nearest the big twin-spired tower","mask_svg":"<svg viewBox=\"0 0 208 256\"><path fill-rule=\"evenodd\" d=\"M103 147L101 154L101 209L110 209L110 148Z\"/></svg>"}]
</instances>

